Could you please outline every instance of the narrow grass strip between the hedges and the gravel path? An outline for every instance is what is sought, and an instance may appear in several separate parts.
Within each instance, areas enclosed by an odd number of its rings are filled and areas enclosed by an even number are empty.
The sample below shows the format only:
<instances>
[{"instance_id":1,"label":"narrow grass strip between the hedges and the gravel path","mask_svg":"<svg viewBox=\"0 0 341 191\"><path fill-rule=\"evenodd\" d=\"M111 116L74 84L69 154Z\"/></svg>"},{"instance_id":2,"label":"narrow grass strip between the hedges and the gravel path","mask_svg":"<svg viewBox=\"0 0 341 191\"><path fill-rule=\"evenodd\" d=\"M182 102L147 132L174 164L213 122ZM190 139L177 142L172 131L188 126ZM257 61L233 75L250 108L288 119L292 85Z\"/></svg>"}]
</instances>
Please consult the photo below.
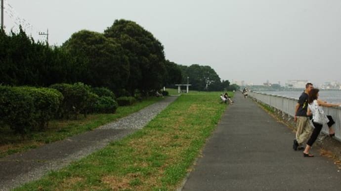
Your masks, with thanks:
<instances>
[{"instance_id":1,"label":"narrow grass strip between the hedges and the gravel path","mask_svg":"<svg viewBox=\"0 0 341 191\"><path fill-rule=\"evenodd\" d=\"M53 120L46 130L33 131L24 137L14 134L9 127L0 127L0 158L92 130L134 113L160 99L162 98L149 97L134 105L119 107L115 114L92 114L87 118L80 116L78 120Z\"/></svg>"}]
</instances>

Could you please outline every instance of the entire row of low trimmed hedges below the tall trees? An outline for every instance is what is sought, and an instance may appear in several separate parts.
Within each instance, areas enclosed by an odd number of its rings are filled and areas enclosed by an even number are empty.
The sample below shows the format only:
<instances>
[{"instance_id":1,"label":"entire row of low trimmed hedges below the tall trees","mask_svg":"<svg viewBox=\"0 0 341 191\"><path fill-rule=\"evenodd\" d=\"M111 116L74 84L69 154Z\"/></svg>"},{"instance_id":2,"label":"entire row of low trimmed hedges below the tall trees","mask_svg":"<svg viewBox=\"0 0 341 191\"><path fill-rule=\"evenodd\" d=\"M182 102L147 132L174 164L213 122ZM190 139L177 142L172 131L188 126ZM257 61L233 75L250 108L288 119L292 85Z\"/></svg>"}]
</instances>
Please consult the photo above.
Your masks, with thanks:
<instances>
[{"instance_id":1,"label":"entire row of low trimmed hedges below the tall trees","mask_svg":"<svg viewBox=\"0 0 341 191\"><path fill-rule=\"evenodd\" d=\"M83 83L54 84L50 88L0 86L0 124L24 134L34 129L43 130L55 117L77 119L79 114L86 117L88 113L116 112L118 102L110 90L92 90L101 96L92 93ZM126 102L130 105L135 99L128 97Z\"/></svg>"}]
</instances>

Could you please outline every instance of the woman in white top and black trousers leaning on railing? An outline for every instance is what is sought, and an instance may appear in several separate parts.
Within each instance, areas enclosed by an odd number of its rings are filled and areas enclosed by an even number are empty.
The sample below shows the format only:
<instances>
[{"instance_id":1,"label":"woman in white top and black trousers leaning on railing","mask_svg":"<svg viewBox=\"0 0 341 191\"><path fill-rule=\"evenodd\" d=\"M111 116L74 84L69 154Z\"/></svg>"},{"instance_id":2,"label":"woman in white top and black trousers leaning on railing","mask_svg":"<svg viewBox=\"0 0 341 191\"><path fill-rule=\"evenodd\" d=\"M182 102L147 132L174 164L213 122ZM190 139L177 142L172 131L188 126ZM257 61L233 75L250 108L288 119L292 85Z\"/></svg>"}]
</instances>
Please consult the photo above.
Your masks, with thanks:
<instances>
[{"instance_id":1,"label":"woman in white top and black trousers leaning on railing","mask_svg":"<svg viewBox=\"0 0 341 191\"><path fill-rule=\"evenodd\" d=\"M317 123L314 122L314 119L317 121L318 117L317 115L319 115L319 112L321 113L321 116L324 118L323 121L325 121L325 123L327 123L328 127L329 127L329 136L334 136L335 135L335 131L331 128L335 122L332 118L332 116L328 115L326 116L322 110L321 106L325 106L325 107L333 107L333 106L340 106L340 103L338 104L333 104L333 103L327 103L326 101L322 101L320 99L318 99L318 94L319 90L318 89L312 89L309 92L309 97L308 97L308 110L307 110L307 116L310 116L311 114L313 115L313 125L314 125L314 130L305 146L305 149L303 151L303 157L314 157L314 155L309 154L309 151L311 149L311 146L314 144L314 142L317 139L317 136L320 134L321 129L323 127L323 124L321 123Z\"/></svg>"}]
</instances>

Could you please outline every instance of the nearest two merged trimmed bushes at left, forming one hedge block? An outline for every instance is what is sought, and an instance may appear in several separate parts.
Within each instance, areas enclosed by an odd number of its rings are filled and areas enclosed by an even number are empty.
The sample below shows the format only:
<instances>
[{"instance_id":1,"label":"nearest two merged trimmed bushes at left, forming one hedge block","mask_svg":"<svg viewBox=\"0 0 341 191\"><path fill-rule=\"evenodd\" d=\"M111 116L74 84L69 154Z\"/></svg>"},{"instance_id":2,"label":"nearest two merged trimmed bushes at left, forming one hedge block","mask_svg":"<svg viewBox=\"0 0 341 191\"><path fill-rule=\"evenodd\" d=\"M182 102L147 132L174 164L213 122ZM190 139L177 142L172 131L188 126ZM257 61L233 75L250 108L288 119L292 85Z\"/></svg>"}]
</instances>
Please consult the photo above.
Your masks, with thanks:
<instances>
[{"instance_id":1,"label":"nearest two merged trimmed bushes at left, forming one hedge block","mask_svg":"<svg viewBox=\"0 0 341 191\"><path fill-rule=\"evenodd\" d=\"M47 127L63 96L56 90L0 86L0 118L16 133Z\"/></svg>"}]
</instances>

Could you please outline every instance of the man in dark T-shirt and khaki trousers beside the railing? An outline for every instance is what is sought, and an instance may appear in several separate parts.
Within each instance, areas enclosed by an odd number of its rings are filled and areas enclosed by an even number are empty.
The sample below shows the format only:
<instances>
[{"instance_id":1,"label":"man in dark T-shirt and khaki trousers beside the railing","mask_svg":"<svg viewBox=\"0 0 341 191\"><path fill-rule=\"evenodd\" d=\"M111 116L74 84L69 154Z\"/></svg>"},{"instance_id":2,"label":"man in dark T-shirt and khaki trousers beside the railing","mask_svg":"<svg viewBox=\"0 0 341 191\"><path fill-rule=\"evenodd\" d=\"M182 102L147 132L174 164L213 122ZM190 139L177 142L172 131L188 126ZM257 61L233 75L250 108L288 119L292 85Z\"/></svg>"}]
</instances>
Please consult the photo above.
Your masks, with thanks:
<instances>
[{"instance_id":1,"label":"man in dark T-shirt and khaki trousers beside the railing","mask_svg":"<svg viewBox=\"0 0 341 191\"><path fill-rule=\"evenodd\" d=\"M297 151L299 145L302 145L305 142L312 131L312 128L309 123L309 117L307 116L307 108L308 108L308 95L310 90L313 89L313 85L311 83L307 83L305 85L305 90L299 96L298 103L295 108L295 118L294 121L297 122L296 129L296 139L294 140L293 149Z\"/></svg>"}]
</instances>

